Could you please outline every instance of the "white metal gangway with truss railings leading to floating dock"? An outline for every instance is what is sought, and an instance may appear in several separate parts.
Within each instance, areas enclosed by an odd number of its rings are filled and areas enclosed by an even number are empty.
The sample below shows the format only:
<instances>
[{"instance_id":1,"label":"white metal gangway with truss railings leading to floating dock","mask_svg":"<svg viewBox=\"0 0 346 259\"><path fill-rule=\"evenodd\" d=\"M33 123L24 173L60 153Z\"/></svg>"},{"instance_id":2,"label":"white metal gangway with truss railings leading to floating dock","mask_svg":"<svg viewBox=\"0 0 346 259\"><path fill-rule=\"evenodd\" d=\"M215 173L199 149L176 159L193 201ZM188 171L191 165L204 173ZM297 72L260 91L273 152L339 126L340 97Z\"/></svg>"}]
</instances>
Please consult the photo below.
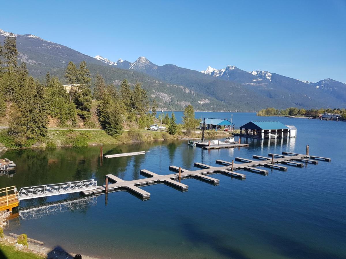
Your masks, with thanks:
<instances>
[{"instance_id":1,"label":"white metal gangway with truss railings leading to floating dock","mask_svg":"<svg viewBox=\"0 0 346 259\"><path fill-rule=\"evenodd\" d=\"M19 190L18 200L89 191L96 188L97 181L95 181L94 179L24 187Z\"/></svg>"}]
</instances>

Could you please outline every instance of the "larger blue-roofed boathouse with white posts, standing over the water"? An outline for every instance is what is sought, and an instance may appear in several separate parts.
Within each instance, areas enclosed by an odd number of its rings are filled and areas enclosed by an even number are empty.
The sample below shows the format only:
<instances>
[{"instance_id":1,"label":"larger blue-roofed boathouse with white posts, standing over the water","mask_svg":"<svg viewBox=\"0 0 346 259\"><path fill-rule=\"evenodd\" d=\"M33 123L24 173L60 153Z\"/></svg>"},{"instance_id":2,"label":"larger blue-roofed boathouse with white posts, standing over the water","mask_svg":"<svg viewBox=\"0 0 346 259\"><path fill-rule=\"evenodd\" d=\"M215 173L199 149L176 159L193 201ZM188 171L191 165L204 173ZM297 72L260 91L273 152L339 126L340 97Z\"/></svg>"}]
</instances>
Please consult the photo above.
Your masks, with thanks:
<instances>
[{"instance_id":1,"label":"larger blue-roofed boathouse with white posts, standing over the water","mask_svg":"<svg viewBox=\"0 0 346 259\"><path fill-rule=\"evenodd\" d=\"M297 136L297 128L278 121L251 121L240 126L240 136L254 138L295 137Z\"/></svg>"}]
</instances>

